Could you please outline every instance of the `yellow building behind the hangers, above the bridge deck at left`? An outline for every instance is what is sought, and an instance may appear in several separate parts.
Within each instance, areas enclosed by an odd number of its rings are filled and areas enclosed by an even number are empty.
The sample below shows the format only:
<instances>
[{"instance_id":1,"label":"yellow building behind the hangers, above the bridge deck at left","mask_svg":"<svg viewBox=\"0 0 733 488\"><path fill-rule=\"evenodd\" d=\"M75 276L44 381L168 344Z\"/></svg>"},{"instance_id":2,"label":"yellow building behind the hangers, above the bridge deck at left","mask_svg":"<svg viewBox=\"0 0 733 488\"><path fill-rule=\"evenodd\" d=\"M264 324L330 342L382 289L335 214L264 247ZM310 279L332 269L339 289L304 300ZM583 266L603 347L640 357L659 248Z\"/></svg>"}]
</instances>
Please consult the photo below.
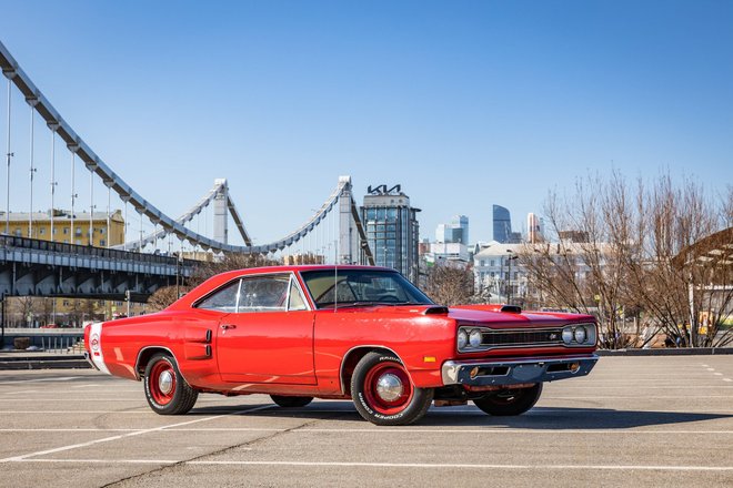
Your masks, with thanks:
<instances>
[{"instance_id":1,"label":"yellow building behind the hangers, above the bridge deck at left","mask_svg":"<svg viewBox=\"0 0 733 488\"><path fill-rule=\"evenodd\" d=\"M51 216L52 215L52 216ZM90 236L89 212L71 212L54 209L48 212L10 212L6 217L0 212L0 228L4 232L4 220L9 222L9 234L18 237L39 238L66 244L93 245L96 247L110 247L122 244L124 241L124 218L122 213L116 210L111 214L107 212L93 212L91 215ZM108 218L109 217L109 218ZM53 222L53 233L51 233ZM90 242L91 241L91 242Z\"/></svg>"}]
</instances>

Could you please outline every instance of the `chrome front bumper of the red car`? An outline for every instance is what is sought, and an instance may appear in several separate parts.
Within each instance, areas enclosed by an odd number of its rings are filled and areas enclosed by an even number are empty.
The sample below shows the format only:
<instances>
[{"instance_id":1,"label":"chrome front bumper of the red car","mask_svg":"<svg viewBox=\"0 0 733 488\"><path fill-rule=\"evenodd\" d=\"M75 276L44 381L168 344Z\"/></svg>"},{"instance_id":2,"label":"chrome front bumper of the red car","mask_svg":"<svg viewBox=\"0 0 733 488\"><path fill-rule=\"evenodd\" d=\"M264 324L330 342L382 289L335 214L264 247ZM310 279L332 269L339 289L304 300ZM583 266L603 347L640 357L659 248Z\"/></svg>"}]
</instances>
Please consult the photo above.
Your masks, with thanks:
<instances>
[{"instance_id":1,"label":"chrome front bumper of the red car","mask_svg":"<svg viewBox=\"0 0 733 488\"><path fill-rule=\"evenodd\" d=\"M593 355L563 358L519 360L446 360L443 363L443 385L518 385L556 382L591 373L599 357Z\"/></svg>"}]
</instances>

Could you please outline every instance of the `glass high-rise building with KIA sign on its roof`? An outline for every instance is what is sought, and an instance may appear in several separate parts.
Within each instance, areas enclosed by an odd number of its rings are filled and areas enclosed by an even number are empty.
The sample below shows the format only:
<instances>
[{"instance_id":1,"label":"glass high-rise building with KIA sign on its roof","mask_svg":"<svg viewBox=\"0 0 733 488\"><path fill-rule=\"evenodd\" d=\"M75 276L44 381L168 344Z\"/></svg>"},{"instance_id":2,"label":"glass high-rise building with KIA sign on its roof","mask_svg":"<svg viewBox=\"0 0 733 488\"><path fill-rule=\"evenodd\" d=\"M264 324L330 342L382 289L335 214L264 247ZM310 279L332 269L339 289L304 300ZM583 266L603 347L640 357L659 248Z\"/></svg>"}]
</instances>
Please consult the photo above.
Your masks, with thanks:
<instances>
[{"instance_id":1,"label":"glass high-rise building with KIA sign on its roof","mask_svg":"<svg viewBox=\"0 0 733 488\"><path fill-rule=\"evenodd\" d=\"M413 283L418 281L418 212L420 209L410 206L401 185L369 186L361 207L375 264L392 267Z\"/></svg>"}]
</instances>

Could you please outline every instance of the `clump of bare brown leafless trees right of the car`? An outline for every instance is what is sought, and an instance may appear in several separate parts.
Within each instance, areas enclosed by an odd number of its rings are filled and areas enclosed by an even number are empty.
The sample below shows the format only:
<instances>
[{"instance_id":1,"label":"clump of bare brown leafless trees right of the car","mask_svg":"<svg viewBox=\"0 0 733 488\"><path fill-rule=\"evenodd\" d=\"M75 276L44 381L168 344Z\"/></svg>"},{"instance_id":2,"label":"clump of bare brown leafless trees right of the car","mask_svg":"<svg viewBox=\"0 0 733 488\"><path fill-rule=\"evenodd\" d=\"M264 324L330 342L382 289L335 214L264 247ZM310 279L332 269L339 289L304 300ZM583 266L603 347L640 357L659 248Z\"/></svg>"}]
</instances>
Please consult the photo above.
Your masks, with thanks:
<instances>
[{"instance_id":1,"label":"clump of bare brown leafless trees right of the car","mask_svg":"<svg viewBox=\"0 0 733 488\"><path fill-rule=\"evenodd\" d=\"M716 209L702 185L669 175L630 186L617 172L579 181L545 205L553 244L521 253L530 283L551 306L598 316L608 347L644 345L663 332L681 346L733 340L730 317L733 192ZM713 253L713 255L711 255ZM634 317L635 331L626 318ZM640 334L640 328L652 331Z\"/></svg>"}]
</instances>

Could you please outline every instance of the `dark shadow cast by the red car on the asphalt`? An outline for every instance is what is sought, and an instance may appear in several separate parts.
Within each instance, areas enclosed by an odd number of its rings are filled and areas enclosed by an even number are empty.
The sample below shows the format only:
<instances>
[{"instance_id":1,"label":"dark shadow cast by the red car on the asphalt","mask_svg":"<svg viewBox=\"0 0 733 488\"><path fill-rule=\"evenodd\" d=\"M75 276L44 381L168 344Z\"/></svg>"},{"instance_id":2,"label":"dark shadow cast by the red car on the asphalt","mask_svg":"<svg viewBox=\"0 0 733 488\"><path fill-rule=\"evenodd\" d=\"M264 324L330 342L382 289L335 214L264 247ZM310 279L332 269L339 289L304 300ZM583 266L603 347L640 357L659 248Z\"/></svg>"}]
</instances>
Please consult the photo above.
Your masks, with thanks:
<instances>
[{"instance_id":1,"label":"dark shadow cast by the red car on the asphalt","mask_svg":"<svg viewBox=\"0 0 733 488\"><path fill-rule=\"evenodd\" d=\"M263 408L271 407L271 408ZM317 401L302 408L282 408L271 404L231 405L194 408L189 415L242 415L322 419L340 423L365 420L350 401ZM611 408L534 407L515 417L494 417L473 406L432 407L415 427L491 427L535 430L609 430L635 427L682 425L732 418L733 415L712 413L615 410Z\"/></svg>"}]
</instances>

